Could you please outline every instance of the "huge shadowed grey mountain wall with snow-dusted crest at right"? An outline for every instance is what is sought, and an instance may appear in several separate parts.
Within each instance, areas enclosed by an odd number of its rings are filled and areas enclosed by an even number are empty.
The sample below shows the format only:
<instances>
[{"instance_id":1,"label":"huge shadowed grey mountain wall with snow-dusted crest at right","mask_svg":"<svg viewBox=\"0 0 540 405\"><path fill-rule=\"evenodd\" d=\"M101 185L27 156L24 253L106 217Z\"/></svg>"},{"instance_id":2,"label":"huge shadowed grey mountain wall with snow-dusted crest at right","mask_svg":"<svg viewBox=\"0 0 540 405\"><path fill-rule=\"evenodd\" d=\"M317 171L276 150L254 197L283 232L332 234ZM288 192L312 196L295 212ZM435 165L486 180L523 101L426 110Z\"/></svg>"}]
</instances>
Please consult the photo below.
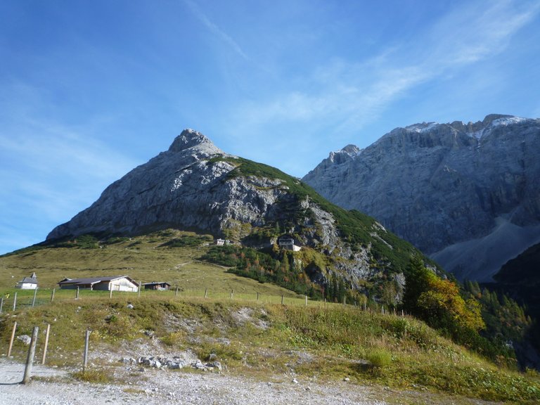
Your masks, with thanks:
<instances>
[{"instance_id":1,"label":"huge shadowed grey mountain wall with snow-dusted crest at right","mask_svg":"<svg viewBox=\"0 0 540 405\"><path fill-rule=\"evenodd\" d=\"M364 150L330 153L303 181L459 278L488 281L540 240L540 120L397 128Z\"/></svg>"}]
</instances>

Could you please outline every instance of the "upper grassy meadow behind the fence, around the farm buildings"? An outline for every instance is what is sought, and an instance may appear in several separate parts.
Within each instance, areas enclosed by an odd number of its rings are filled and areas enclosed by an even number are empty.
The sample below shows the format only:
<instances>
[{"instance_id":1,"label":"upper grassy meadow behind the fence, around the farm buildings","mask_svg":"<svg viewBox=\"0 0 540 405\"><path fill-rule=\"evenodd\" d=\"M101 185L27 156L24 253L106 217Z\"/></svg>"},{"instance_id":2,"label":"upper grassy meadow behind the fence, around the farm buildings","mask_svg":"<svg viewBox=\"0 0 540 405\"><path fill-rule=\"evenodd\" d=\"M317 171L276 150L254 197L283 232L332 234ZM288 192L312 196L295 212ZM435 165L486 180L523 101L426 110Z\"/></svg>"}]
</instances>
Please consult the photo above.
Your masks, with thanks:
<instances>
[{"instance_id":1,"label":"upper grassy meadow behind the fence, around the farm buildings","mask_svg":"<svg viewBox=\"0 0 540 405\"><path fill-rule=\"evenodd\" d=\"M46 294L50 294L52 288L58 288L57 283L63 278L130 276L142 283L167 281L173 289L202 290L203 294L207 288L212 294L234 290L252 295L295 295L270 283L261 284L229 274L224 266L201 261L200 257L209 246L179 248L165 245L171 240L203 239L209 240L191 232L167 230L136 238L115 238L114 243L101 243L102 248L96 249L38 247L4 255L0 257L0 292L13 296L15 283L35 271L39 288L49 290ZM18 290L18 294L27 293Z\"/></svg>"}]
</instances>

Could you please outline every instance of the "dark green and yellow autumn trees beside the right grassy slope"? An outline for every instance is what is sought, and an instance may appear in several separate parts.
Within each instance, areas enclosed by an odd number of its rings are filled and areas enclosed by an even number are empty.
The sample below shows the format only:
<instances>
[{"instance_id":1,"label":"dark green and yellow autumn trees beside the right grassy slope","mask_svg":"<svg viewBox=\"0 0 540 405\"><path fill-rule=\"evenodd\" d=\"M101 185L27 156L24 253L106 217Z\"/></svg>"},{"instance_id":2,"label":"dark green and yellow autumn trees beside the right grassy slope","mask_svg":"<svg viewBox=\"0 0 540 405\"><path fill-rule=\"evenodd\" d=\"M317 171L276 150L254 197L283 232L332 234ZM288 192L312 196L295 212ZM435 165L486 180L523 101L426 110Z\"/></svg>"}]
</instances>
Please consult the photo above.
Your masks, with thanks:
<instances>
[{"instance_id":1,"label":"dark green and yellow autumn trees beside the right grassy slope","mask_svg":"<svg viewBox=\"0 0 540 405\"><path fill-rule=\"evenodd\" d=\"M480 293L477 283L437 277L413 257L406 272L403 307L458 344L465 345L497 364L516 367L513 341L525 339L531 326L524 310L496 293Z\"/></svg>"}]
</instances>

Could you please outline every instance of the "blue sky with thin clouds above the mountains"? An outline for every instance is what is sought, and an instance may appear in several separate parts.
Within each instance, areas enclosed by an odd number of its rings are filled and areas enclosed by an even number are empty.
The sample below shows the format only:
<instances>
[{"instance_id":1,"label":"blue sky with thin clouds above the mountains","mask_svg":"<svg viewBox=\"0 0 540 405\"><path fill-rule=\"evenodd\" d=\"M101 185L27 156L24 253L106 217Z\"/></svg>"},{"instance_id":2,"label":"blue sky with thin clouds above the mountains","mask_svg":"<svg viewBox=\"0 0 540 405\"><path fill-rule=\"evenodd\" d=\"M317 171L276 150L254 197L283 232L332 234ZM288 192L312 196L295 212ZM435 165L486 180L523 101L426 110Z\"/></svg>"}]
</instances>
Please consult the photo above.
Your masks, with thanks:
<instances>
[{"instance_id":1,"label":"blue sky with thin clouds above the mountains","mask_svg":"<svg viewBox=\"0 0 540 405\"><path fill-rule=\"evenodd\" d=\"M540 116L534 1L1 0L0 254L184 128L304 176L395 127Z\"/></svg>"}]
</instances>

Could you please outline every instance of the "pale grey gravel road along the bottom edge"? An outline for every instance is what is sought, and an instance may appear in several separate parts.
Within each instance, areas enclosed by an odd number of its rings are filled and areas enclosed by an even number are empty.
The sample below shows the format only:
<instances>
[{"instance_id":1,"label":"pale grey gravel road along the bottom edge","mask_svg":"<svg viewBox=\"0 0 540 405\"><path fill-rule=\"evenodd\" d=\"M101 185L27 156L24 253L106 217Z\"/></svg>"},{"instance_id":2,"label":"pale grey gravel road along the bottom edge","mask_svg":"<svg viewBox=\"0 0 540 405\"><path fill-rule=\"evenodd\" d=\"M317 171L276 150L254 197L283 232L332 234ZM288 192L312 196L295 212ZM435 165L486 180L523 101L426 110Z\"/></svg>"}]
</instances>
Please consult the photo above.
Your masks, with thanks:
<instances>
[{"instance_id":1,"label":"pale grey gravel road along the bottom edge","mask_svg":"<svg viewBox=\"0 0 540 405\"><path fill-rule=\"evenodd\" d=\"M356 404L383 405L380 392L345 381L320 385L302 380L261 382L218 373L116 367L120 384L80 383L58 368L34 366L29 384L19 384L24 366L0 359L3 405L71 404Z\"/></svg>"}]
</instances>

